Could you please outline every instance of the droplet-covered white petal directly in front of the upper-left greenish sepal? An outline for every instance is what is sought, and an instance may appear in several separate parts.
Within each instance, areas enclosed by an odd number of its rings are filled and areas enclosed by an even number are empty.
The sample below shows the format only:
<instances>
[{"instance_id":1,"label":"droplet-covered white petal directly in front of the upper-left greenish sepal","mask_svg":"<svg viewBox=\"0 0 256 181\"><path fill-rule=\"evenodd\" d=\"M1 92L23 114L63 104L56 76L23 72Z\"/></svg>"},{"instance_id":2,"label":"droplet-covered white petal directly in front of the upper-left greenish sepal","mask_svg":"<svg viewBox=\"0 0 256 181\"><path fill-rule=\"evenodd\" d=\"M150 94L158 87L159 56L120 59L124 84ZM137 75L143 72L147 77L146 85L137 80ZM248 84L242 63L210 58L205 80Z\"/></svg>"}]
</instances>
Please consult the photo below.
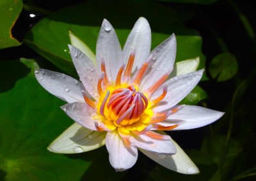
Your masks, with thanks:
<instances>
[{"instance_id":1,"label":"droplet-covered white petal directly in front of the upper-left greenish sepal","mask_svg":"<svg viewBox=\"0 0 256 181\"><path fill-rule=\"evenodd\" d=\"M83 82L86 91L88 91L94 99L97 99L97 97L99 97L97 91L99 74L97 73L93 62L76 47L73 47L72 45L68 45L68 47L76 71L80 80Z\"/></svg>"}]
</instances>

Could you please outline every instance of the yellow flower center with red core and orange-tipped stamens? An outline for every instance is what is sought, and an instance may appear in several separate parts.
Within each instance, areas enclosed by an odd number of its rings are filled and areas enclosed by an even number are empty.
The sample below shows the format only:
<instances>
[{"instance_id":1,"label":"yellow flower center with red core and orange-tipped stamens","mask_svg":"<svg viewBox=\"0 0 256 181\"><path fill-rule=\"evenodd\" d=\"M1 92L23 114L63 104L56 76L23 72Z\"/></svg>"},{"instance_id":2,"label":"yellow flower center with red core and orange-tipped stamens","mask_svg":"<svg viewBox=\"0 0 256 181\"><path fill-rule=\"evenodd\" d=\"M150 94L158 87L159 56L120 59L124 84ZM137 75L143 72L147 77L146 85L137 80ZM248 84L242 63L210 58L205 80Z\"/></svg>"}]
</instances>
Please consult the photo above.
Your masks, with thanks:
<instances>
[{"instance_id":1,"label":"yellow flower center with red core and orange-tipped stamens","mask_svg":"<svg viewBox=\"0 0 256 181\"><path fill-rule=\"evenodd\" d=\"M109 82L108 76L106 75L106 67L102 60L102 74L99 77L97 85L100 98L97 102L94 102L86 95L84 96L86 103L99 113L102 122L95 123L97 130L113 131L117 129L120 136L122 136L127 143L129 143L129 141L125 140L125 138L131 133L150 134L148 136L158 138L157 136L159 136L159 134L154 134L152 131L148 132L152 127L158 130L170 130L177 127L177 125L164 127L156 123L163 121L171 113L179 109L174 108L168 112L159 113L152 110L152 106L159 103L159 101L166 96L167 88L164 87L163 94L156 99L150 100L150 95L168 78L168 73L159 78L159 80L146 91L141 92L139 85L148 68L150 59L137 71L131 83L131 71L134 57L135 54L132 53L126 68L122 66L119 69L115 82ZM97 119L99 119L99 117L97 117Z\"/></svg>"}]
</instances>

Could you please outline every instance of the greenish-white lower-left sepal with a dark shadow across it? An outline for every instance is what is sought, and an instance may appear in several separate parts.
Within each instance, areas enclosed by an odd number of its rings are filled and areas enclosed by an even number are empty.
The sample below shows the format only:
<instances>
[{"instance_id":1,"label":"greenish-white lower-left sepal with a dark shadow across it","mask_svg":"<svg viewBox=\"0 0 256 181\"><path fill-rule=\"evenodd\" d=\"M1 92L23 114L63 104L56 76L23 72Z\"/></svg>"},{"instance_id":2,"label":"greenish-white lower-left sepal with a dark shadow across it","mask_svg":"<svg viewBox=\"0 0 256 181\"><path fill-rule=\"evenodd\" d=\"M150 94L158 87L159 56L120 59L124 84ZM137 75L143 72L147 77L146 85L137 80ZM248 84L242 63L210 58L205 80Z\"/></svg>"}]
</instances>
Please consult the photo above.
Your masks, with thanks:
<instances>
[{"instance_id":1,"label":"greenish-white lower-left sepal with a dark shadow across it","mask_svg":"<svg viewBox=\"0 0 256 181\"><path fill-rule=\"evenodd\" d=\"M106 133L92 131L74 123L68 127L47 148L59 154L77 154L88 152L105 145Z\"/></svg>"}]
</instances>

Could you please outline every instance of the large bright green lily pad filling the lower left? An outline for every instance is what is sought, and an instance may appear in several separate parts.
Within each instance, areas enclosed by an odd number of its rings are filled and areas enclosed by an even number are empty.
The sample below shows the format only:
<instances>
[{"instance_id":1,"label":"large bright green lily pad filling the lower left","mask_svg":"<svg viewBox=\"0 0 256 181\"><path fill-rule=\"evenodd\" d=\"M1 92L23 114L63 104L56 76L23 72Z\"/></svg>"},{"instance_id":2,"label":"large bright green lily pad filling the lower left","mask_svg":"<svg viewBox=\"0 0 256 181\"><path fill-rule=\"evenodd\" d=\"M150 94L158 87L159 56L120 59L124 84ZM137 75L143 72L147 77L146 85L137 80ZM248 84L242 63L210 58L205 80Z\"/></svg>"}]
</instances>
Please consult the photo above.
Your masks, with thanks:
<instances>
[{"instance_id":1,"label":"large bright green lily pad filling the lower left","mask_svg":"<svg viewBox=\"0 0 256 181\"><path fill-rule=\"evenodd\" d=\"M64 103L36 82L35 61L22 62L26 66L19 60L0 61L1 77L8 79L8 89L0 93L0 180L79 180L91 161L46 149L72 124L60 109Z\"/></svg>"}]
</instances>

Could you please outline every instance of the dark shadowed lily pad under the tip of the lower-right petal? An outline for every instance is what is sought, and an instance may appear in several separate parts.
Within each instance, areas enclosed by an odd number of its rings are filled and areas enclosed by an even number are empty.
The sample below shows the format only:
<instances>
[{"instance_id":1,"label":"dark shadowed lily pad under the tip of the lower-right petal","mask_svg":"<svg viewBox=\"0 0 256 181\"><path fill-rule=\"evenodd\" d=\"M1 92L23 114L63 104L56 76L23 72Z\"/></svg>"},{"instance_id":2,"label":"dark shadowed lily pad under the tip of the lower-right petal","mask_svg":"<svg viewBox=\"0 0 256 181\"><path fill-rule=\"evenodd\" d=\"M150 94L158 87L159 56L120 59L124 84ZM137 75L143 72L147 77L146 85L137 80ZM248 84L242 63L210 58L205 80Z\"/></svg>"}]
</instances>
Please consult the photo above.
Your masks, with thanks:
<instances>
[{"instance_id":1,"label":"dark shadowed lily pad under the tip of the lower-right petal","mask_svg":"<svg viewBox=\"0 0 256 181\"><path fill-rule=\"evenodd\" d=\"M188 156L191 160L198 166L200 173L198 175L184 175L181 173L176 173L172 170L168 170L159 164L151 171L147 180L211 180L218 181L220 180L220 172L218 166L211 157L203 154L198 150L188 150Z\"/></svg>"}]
</instances>

